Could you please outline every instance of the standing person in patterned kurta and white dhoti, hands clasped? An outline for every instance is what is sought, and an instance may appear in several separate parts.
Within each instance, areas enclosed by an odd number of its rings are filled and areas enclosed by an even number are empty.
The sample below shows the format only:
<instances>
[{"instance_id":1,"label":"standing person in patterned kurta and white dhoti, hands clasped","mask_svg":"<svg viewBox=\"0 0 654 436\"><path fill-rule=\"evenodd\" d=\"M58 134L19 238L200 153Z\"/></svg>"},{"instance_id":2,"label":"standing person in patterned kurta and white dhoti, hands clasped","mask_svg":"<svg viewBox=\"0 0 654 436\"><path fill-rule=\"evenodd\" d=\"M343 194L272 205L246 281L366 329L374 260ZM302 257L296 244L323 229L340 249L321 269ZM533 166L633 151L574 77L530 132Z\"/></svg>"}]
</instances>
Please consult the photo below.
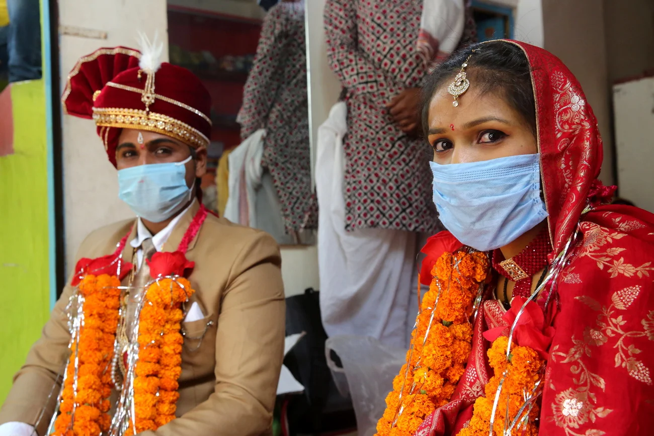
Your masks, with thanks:
<instances>
[{"instance_id":1,"label":"standing person in patterned kurta and white dhoti, hands clasped","mask_svg":"<svg viewBox=\"0 0 654 436\"><path fill-rule=\"evenodd\" d=\"M336 145L345 169L334 174L343 182L343 197L323 195L320 203L323 222L339 227L330 233L335 243L318 241L320 309L330 336L366 335L397 347L408 343L418 310L416 248L422 233L439 227L428 146L417 131L418 97L428 70L457 44L473 39L466 6L464 0L326 2L327 56L347 105L347 122L326 123L347 124ZM419 35L429 36L431 59L419 50ZM330 118L336 114L343 111ZM325 165L317 161L320 173L330 173ZM316 183L324 184L319 193L332 193L329 178Z\"/></svg>"}]
</instances>

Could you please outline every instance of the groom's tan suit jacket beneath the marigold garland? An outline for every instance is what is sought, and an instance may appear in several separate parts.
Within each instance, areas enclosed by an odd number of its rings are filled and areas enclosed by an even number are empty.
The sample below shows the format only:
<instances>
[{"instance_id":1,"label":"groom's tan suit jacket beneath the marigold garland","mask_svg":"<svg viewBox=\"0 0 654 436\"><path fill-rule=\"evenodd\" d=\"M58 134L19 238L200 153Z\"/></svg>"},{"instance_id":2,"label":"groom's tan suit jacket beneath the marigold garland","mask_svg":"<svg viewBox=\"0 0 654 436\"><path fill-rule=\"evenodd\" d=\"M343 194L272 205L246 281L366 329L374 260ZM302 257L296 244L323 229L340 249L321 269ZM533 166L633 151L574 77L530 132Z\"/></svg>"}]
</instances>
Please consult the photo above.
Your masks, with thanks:
<instances>
[{"instance_id":1,"label":"groom's tan suit jacket beneath the marigold garland","mask_svg":"<svg viewBox=\"0 0 654 436\"><path fill-rule=\"evenodd\" d=\"M182 216L163 251L175 251L193 216ZM130 233L131 228L131 233ZM91 233L77 258L111 254L122 237L136 234L134 220ZM123 258L131 260L126 245ZM258 436L270 431L284 351L284 289L277 243L267 233L237 226L209 214L186 257L196 263L190 282L206 318L182 323L186 332L179 380L177 419L146 436ZM70 282L69 282L70 283ZM69 356L66 286L50 320L14 377L0 424L35 425L43 436L54 413L60 375ZM186 309L190 307L187 303ZM190 339L190 338L201 339ZM53 384L57 384L54 393Z\"/></svg>"}]
</instances>

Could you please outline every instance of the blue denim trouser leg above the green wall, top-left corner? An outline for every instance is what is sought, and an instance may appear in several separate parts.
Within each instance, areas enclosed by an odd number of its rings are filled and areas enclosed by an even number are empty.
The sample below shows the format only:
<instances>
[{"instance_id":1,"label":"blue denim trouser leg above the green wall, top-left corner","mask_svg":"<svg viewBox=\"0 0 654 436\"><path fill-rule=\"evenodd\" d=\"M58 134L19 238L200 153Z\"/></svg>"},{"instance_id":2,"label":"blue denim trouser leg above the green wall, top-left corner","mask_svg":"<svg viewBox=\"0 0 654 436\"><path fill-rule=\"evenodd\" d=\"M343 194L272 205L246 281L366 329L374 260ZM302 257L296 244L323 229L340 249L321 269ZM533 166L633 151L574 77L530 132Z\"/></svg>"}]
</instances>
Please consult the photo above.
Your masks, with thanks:
<instances>
[{"instance_id":1,"label":"blue denim trouser leg above the green wall, top-left corner","mask_svg":"<svg viewBox=\"0 0 654 436\"><path fill-rule=\"evenodd\" d=\"M41 78L39 0L7 0L9 82Z\"/></svg>"}]
</instances>

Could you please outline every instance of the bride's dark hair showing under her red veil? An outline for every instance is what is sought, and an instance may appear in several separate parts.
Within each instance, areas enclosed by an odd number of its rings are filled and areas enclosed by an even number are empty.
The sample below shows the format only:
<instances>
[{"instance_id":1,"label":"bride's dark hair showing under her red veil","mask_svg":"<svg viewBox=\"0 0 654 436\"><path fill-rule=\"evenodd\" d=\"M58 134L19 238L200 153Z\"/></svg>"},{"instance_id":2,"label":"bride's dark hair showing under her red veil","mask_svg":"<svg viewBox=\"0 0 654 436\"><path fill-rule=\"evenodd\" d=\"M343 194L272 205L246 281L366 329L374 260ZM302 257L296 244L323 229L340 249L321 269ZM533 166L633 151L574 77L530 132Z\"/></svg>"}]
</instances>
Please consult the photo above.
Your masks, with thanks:
<instances>
[{"instance_id":1,"label":"bride's dark hair showing under her red veil","mask_svg":"<svg viewBox=\"0 0 654 436\"><path fill-rule=\"evenodd\" d=\"M472 44L458 50L428 76L422 87L421 118L424 137L427 137L429 104L434 93L454 80L461 70L462 63L471 54L466 68L470 86L481 87L482 94L500 93L509 105L525 118L526 124L536 136L536 105L525 52L511 42L491 41Z\"/></svg>"}]
</instances>

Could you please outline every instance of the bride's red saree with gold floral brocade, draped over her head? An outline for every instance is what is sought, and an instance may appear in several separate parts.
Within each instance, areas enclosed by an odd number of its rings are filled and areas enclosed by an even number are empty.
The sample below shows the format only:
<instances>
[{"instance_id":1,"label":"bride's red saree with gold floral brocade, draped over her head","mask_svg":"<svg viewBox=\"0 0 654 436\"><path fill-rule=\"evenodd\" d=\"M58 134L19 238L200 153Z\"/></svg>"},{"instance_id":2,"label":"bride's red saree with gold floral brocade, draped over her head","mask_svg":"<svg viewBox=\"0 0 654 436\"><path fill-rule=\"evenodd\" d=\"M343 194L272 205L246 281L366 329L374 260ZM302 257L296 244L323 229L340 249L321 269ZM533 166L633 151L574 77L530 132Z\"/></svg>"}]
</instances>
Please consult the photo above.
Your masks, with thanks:
<instances>
[{"instance_id":1,"label":"bride's red saree with gold floral brocade, draped over her head","mask_svg":"<svg viewBox=\"0 0 654 436\"><path fill-rule=\"evenodd\" d=\"M524 50L532 68L550 259L571 238L573 244L553 286L555 336L539 434L654 434L654 214L600 205L610 194L596 180L602 140L579 82L542 48L508 43ZM502 324L503 314L494 301L479 310L470 360L452 401L416 435L456 435L466 425L492 376L482 333Z\"/></svg>"}]
</instances>

